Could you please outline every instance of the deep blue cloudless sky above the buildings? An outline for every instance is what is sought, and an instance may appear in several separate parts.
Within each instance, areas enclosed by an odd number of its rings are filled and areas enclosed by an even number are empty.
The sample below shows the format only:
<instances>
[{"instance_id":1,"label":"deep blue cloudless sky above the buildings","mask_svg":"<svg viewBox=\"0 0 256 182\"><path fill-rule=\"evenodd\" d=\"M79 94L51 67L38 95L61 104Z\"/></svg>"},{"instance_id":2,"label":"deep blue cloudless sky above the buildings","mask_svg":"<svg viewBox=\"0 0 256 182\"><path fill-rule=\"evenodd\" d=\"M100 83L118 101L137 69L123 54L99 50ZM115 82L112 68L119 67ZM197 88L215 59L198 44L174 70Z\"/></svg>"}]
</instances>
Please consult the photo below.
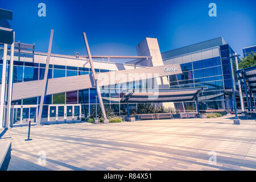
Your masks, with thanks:
<instances>
[{"instance_id":1,"label":"deep blue cloudless sky above the buildings","mask_svg":"<svg viewBox=\"0 0 256 182\"><path fill-rule=\"evenodd\" d=\"M38 4L46 4L46 17ZM208 5L217 5L217 17ZM82 32L88 36L92 55L137 55L136 45L146 37L157 38L162 52L222 36L242 55L242 48L256 44L256 1L1 1L12 10L15 41L34 43L47 52L51 28L53 53L86 55Z\"/></svg>"}]
</instances>

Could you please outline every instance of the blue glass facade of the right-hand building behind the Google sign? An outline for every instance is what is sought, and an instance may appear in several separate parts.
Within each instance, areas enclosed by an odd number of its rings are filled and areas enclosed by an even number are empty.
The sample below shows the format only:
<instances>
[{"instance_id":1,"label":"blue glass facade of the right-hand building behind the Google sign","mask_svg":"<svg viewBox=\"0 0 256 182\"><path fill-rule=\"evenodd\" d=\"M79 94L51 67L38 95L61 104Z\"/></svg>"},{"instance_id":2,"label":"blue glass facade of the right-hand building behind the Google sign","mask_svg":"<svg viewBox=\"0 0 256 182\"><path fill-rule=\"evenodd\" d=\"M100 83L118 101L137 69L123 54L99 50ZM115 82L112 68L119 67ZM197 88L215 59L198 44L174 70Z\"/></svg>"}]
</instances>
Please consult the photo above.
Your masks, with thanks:
<instances>
[{"instance_id":1,"label":"blue glass facade of the right-hand building behind the Google sign","mask_svg":"<svg viewBox=\"0 0 256 182\"><path fill-rule=\"evenodd\" d=\"M225 98L225 90L232 89L231 53L234 51L228 44L225 44L165 59L164 64L180 64L183 71L179 75L169 76L170 88L207 86L208 89L205 89L198 99L200 110L226 109L227 107L232 109L232 96L228 96L231 104L227 103ZM177 110L191 110L192 108L191 105L188 107L185 102L177 102L175 107Z\"/></svg>"}]
</instances>

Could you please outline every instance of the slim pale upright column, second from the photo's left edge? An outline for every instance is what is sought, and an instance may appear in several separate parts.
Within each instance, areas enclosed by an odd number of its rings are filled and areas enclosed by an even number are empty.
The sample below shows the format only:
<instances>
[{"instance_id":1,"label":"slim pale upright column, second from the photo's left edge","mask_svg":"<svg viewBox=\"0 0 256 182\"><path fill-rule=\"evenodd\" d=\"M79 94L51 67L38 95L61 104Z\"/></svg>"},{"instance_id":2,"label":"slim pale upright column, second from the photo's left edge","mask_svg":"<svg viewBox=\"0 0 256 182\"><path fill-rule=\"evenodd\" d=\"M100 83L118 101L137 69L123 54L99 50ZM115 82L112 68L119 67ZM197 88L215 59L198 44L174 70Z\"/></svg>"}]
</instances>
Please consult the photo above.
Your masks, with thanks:
<instances>
[{"instance_id":1,"label":"slim pale upright column, second from the photo's left edge","mask_svg":"<svg viewBox=\"0 0 256 182\"><path fill-rule=\"evenodd\" d=\"M6 127L13 125L11 123L11 100L13 96L13 58L14 58L14 38L15 32L13 32L13 44L11 44L11 59L9 69L9 85L8 85L8 100L7 100L7 115L6 115Z\"/></svg>"}]
</instances>

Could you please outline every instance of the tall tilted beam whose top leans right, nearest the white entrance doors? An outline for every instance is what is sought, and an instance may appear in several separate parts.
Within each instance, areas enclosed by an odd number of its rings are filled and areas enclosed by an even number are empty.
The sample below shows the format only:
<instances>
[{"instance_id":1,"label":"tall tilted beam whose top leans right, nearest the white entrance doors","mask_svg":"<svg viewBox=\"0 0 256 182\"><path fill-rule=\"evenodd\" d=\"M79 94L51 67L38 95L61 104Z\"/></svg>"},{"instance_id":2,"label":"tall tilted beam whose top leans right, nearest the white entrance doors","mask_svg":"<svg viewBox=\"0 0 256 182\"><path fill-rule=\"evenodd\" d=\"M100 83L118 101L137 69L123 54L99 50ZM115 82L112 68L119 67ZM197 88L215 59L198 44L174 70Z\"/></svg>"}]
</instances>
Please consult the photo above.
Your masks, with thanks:
<instances>
[{"instance_id":1,"label":"tall tilted beam whose top leans right, nearest the white entrance doors","mask_svg":"<svg viewBox=\"0 0 256 182\"><path fill-rule=\"evenodd\" d=\"M51 58L52 38L53 38L53 30L51 30L51 35L50 35L50 39L49 39L48 53L47 53L47 59L46 59L46 70L44 71L44 80L43 80L44 83L43 83L39 112L38 112L38 121L37 121L36 125L41 124L44 96L46 95L46 90L47 90L47 76L48 76L48 70L49 70L49 60Z\"/></svg>"}]
</instances>

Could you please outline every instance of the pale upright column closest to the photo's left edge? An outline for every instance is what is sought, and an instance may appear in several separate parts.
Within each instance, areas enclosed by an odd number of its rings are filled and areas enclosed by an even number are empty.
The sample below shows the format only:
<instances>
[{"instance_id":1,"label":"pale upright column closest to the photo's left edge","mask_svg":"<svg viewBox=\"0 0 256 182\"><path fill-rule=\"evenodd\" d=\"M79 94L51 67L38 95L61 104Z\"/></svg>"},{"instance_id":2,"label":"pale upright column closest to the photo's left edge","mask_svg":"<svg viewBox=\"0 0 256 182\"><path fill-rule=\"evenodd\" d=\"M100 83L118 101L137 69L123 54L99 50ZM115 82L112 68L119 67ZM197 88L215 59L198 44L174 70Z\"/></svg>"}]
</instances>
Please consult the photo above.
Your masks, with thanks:
<instances>
[{"instance_id":1,"label":"pale upright column closest to the photo's left edge","mask_svg":"<svg viewBox=\"0 0 256 182\"><path fill-rule=\"evenodd\" d=\"M7 62L7 44L3 44L3 70L2 70L1 98L0 98L1 99L0 100L0 129L4 126L6 62Z\"/></svg>"}]
</instances>

